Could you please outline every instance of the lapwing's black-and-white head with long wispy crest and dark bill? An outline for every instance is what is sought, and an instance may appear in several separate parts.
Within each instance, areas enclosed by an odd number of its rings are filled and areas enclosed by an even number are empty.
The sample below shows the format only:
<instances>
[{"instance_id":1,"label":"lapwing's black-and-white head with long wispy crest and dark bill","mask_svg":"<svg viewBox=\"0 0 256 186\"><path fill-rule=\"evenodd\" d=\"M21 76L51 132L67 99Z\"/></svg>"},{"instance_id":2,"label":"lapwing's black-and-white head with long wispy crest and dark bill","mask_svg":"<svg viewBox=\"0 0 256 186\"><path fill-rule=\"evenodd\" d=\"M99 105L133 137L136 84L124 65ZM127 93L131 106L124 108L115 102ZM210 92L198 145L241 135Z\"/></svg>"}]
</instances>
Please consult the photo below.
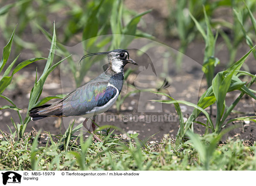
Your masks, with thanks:
<instances>
[{"instance_id":1,"label":"lapwing's black-and-white head with long wispy crest and dark bill","mask_svg":"<svg viewBox=\"0 0 256 186\"><path fill-rule=\"evenodd\" d=\"M84 55L81 58L81 60L92 55L102 55L102 54L108 55L108 62L109 62L108 67L111 68L116 73L122 72L123 68L128 63L138 65L134 60L132 60L129 57L129 53L125 49L115 49L108 52L91 53L91 54Z\"/></svg>"}]
</instances>

